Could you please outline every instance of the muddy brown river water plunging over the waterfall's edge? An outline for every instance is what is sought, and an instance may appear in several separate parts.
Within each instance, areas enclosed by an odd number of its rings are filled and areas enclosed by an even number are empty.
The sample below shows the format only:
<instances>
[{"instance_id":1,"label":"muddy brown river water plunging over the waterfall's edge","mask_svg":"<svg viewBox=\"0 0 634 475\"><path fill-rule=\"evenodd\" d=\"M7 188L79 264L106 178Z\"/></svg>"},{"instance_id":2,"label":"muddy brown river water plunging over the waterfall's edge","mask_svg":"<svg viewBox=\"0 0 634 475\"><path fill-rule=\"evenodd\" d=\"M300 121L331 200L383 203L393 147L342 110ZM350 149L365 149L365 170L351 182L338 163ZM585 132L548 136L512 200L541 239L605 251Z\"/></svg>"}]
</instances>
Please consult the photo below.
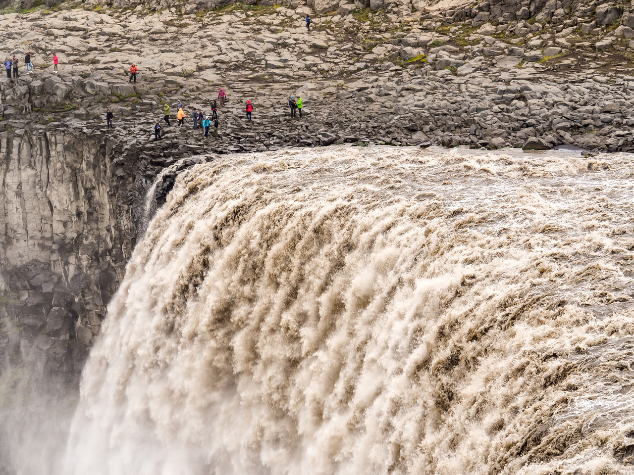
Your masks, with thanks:
<instances>
[{"instance_id":1,"label":"muddy brown river water plunging over the waterfall's edge","mask_svg":"<svg viewBox=\"0 0 634 475\"><path fill-rule=\"evenodd\" d=\"M328 148L181 174L68 475L626 474L631 156Z\"/></svg>"}]
</instances>

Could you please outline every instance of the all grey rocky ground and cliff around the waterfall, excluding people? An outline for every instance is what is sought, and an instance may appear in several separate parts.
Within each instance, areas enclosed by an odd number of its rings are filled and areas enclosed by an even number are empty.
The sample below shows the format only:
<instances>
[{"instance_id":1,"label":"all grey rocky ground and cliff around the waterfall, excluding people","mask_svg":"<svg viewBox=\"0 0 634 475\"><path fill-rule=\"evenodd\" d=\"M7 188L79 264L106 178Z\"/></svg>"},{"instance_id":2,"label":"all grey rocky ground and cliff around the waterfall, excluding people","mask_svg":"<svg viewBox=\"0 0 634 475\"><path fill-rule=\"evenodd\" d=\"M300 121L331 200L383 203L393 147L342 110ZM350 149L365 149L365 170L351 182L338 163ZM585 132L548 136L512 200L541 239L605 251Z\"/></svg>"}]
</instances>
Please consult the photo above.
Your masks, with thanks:
<instances>
[{"instance_id":1,"label":"all grey rocky ground and cliff around the waterfall, excluding people","mask_svg":"<svg viewBox=\"0 0 634 475\"><path fill-rule=\"evenodd\" d=\"M21 75L0 79L5 363L81 370L138 237L146 192L166 167L159 200L178 168L217 153L333 143L634 148L631 4L284 3L7 4L0 35ZM191 109L209 114L219 87L229 96L220 137L205 139L192 130ZM290 117L291 95L304 98L304 117Z\"/></svg>"}]
</instances>

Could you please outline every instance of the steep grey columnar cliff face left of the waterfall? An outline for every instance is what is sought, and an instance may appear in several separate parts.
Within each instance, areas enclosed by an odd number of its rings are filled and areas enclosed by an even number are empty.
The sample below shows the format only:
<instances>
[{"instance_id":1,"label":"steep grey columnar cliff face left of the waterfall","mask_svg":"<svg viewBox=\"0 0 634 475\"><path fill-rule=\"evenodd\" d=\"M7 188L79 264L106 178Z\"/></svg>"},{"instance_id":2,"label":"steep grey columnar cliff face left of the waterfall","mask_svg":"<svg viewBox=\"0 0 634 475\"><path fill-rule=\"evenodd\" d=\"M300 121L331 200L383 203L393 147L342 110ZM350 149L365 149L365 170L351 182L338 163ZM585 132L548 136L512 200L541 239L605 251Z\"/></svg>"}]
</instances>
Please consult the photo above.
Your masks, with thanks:
<instances>
[{"instance_id":1,"label":"steep grey columnar cliff face left of the waterfall","mask_svg":"<svg viewBox=\"0 0 634 475\"><path fill-rule=\"evenodd\" d=\"M133 244L108 145L18 130L0 134L0 151L0 312L9 322L0 352L43 373L79 372Z\"/></svg>"}]
</instances>

